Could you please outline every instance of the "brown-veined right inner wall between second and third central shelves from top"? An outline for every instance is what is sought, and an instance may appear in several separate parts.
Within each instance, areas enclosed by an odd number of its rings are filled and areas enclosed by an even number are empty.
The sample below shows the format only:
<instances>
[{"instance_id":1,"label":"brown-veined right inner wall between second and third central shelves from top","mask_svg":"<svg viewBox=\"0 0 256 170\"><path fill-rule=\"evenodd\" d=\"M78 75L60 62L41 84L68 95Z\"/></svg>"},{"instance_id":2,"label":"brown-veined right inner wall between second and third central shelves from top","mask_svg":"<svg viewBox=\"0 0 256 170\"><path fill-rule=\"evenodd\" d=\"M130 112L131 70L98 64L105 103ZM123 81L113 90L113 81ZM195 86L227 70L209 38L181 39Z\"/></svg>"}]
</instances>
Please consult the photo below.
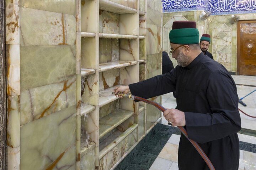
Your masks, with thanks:
<instances>
[{"instance_id":1,"label":"brown-veined right inner wall between second and third central shelves from top","mask_svg":"<svg viewBox=\"0 0 256 170\"><path fill-rule=\"evenodd\" d=\"M138 61L138 39L120 39L120 60Z\"/></svg>"}]
</instances>

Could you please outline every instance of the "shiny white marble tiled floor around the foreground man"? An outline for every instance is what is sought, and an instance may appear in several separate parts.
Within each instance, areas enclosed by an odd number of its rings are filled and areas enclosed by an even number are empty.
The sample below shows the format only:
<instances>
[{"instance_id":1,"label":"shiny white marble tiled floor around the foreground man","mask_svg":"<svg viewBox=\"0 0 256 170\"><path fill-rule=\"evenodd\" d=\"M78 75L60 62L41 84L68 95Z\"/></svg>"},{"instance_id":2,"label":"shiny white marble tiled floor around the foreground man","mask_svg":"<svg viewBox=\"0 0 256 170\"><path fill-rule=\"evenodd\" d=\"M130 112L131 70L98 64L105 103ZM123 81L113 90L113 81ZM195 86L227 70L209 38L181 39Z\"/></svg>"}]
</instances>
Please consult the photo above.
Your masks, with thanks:
<instances>
[{"instance_id":1,"label":"shiny white marble tiled floor around the foreground man","mask_svg":"<svg viewBox=\"0 0 256 170\"><path fill-rule=\"evenodd\" d=\"M238 97L244 97L256 89L255 76L232 76L237 84ZM247 86L249 85L249 86ZM246 107L239 104L239 108L245 113L256 116L256 92L242 100ZM162 96L162 106L175 108L176 99L172 93ZM239 170L256 170L256 118L250 118L242 113L242 130L239 132L240 141L240 163ZM167 125L167 120L162 118L162 124ZM158 157L149 170L178 170L178 143L180 135L172 134Z\"/></svg>"}]
</instances>

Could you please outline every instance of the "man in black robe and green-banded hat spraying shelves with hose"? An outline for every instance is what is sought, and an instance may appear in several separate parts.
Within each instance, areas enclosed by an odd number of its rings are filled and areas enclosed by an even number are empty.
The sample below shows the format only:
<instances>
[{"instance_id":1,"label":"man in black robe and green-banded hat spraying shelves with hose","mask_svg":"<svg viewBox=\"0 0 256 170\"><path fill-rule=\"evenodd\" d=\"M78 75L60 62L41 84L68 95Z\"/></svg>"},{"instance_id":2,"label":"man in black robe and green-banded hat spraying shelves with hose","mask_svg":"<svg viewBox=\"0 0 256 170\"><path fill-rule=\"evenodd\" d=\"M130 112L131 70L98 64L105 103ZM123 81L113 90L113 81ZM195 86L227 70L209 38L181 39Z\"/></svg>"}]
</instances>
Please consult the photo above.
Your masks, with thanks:
<instances>
[{"instance_id":1,"label":"man in black robe and green-banded hat spraying shelves with hose","mask_svg":"<svg viewBox=\"0 0 256 170\"><path fill-rule=\"evenodd\" d=\"M205 57L199 47L196 23L175 21L169 34L172 57L178 66L171 72L121 86L114 92L151 98L172 91L176 109L164 112L172 126L184 126L188 137L199 143L216 170L238 170L241 129L236 85L228 71ZM120 97L120 96L119 96ZM209 169L190 141L181 134L179 170Z\"/></svg>"}]
</instances>

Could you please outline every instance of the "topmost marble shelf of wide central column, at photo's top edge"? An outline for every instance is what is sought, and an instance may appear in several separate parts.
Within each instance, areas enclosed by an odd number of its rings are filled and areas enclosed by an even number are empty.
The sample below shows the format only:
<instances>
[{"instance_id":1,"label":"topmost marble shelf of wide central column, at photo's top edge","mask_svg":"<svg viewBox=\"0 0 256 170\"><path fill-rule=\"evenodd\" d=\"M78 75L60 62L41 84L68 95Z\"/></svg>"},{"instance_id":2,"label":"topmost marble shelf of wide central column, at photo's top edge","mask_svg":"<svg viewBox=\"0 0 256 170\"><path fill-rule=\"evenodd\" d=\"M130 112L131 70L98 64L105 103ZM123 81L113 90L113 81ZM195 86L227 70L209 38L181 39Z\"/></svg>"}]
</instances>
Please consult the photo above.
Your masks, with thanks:
<instances>
[{"instance_id":1,"label":"topmost marble shelf of wide central column, at photo's top edge","mask_svg":"<svg viewBox=\"0 0 256 170\"><path fill-rule=\"evenodd\" d=\"M128 6L124 6L116 2L112 2L110 0L100 0L100 10L109 11L109 12L118 13L118 14L137 12L137 10L135 10L134 8L130 8Z\"/></svg>"}]
</instances>

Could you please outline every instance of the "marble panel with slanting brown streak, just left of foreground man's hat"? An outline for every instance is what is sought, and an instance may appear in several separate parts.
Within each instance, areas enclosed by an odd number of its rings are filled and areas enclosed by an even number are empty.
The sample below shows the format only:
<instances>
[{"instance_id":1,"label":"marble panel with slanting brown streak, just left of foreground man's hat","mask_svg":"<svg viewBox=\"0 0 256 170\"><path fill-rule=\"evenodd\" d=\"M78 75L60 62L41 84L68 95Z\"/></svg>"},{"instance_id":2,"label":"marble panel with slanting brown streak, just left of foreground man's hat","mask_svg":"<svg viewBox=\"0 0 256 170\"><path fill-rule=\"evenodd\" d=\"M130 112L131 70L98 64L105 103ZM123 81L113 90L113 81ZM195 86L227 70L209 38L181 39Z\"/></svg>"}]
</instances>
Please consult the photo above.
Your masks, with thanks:
<instances>
[{"instance_id":1,"label":"marble panel with slanting brown streak, just left of foreground man's hat","mask_svg":"<svg viewBox=\"0 0 256 170\"><path fill-rule=\"evenodd\" d=\"M146 42L147 55L161 52L161 27L147 22Z\"/></svg>"}]
</instances>

